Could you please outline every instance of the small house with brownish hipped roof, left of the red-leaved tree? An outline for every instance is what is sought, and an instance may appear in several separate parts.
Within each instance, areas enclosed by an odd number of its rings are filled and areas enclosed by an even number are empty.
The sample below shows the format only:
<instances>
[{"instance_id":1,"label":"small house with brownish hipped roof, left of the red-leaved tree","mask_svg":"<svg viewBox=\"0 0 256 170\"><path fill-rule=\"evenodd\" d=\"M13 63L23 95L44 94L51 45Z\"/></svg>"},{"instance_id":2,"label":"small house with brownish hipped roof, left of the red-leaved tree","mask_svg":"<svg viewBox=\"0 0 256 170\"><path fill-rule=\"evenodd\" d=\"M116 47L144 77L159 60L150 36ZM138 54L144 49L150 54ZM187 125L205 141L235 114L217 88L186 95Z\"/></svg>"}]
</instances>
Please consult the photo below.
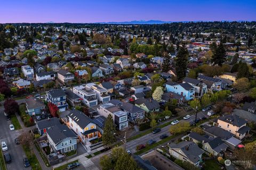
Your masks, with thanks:
<instances>
[{"instance_id":1,"label":"small house with brownish hipped roof, left of the red-leaved tree","mask_svg":"<svg viewBox=\"0 0 256 170\"><path fill-rule=\"evenodd\" d=\"M43 110L45 109L44 103L35 97L29 97L25 99L27 113L32 115L38 115L43 113Z\"/></svg>"}]
</instances>

